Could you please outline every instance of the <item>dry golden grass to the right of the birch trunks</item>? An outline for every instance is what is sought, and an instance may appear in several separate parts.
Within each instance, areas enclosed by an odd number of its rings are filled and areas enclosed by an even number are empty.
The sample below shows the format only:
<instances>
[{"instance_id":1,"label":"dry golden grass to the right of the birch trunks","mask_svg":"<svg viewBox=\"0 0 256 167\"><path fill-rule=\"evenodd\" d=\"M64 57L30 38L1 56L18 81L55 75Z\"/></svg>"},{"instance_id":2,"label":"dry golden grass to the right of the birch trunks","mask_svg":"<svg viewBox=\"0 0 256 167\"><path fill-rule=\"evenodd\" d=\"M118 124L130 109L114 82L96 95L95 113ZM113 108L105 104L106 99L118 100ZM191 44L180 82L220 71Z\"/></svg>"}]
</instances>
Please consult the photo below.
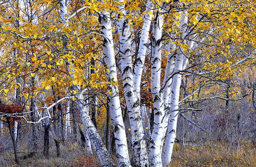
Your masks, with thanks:
<instances>
[{"instance_id":1,"label":"dry golden grass to the right of the birch trunks","mask_svg":"<svg viewBox=\"0 0 256 167\"><path fill-rule=\"evenodd\" d=\"M187 146L175 145L171 167L255 167L256 149L243 144L238 152L227 151L224 144Z\"/></svg>"}]
</instances>

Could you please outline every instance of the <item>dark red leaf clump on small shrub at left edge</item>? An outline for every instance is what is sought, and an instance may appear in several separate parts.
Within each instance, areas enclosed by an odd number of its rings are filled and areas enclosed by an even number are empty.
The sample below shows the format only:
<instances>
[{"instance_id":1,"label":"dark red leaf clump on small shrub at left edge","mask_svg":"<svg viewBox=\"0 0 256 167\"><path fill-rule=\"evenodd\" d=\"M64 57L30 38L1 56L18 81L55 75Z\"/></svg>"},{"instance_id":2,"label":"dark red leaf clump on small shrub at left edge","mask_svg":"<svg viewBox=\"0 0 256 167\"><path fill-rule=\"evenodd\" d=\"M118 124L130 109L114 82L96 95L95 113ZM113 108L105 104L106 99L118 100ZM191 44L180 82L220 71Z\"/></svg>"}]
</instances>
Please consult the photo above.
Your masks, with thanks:
<instances>
[{"instance_id":1,"label":"dark red leaf clump on small shrub at left edge","mask_svg":"<svg viewBox=\"0 0 256 167\"><path fill-rule=\"evenodd\" d=\"M9 116L7 115L5 118L10 123L11 127L13 127L14 121L20 121L21 117L18 117L18 116L22 115L22 114L15 114L15 113L22 113L22 109L14 103L12 103L11 105L2 104L0 105L0 113L12 114Z\"/></svg>"}]
</instances>

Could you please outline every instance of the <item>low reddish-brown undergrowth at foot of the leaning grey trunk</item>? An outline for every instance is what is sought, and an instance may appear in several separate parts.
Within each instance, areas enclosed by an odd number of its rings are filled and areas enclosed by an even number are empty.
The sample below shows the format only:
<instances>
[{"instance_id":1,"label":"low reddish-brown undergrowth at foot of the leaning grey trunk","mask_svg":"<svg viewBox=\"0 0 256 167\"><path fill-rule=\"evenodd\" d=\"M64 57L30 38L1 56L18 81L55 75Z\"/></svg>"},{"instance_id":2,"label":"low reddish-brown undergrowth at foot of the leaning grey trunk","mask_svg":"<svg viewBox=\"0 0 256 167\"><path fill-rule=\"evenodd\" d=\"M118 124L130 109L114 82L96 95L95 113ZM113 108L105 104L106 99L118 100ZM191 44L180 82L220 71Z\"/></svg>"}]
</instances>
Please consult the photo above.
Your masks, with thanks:
<instances>
[{"instance_id":1,"label":"low reddish-brown undergrowth at foot of the leaning grey trunk","mask_svg":"<svg viewBox=\"0 0 256 167\"><path fill-rule=\"evenodd\" d=\"M93 156L82 156L78 161L75 161L74 164L70 164L72 167L100 167L100 163L98 163Z\"/></svg>"}]
</instances>

